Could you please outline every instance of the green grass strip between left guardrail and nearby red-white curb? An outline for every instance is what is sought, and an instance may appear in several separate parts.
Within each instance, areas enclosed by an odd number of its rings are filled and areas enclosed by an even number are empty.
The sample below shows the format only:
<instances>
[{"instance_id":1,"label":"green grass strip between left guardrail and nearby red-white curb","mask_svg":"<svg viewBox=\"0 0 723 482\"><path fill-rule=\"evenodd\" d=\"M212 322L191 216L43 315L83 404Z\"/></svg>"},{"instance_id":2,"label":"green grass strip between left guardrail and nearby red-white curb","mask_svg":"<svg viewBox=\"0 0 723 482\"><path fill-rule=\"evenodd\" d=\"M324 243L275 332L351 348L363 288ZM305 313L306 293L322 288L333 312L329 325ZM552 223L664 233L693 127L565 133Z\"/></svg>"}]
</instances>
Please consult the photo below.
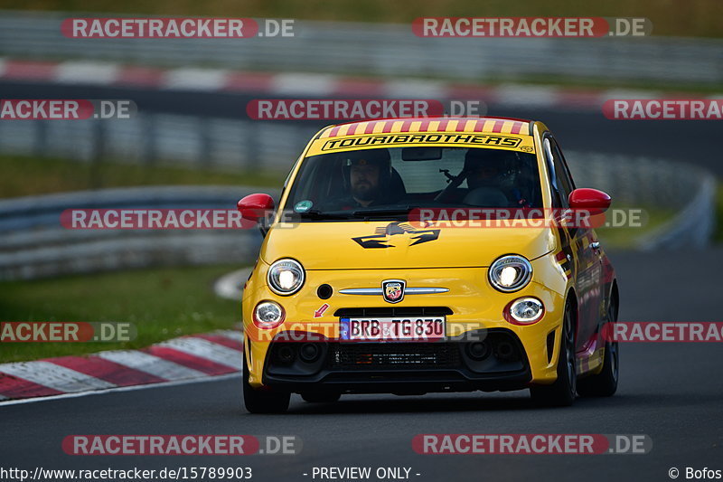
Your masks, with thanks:
<instances>
[{"instance_id":1,"label":"green grass strip between left guardrail and nearby red-white curb","mask_svg":"<svg viewBox=\"0 0 723 482\"><path fill-rule=\"evenodd\" d=\"M2 321L123 321L127 343L0 343L0 363L133 349L176 336L230 328L240 303L216 297L213 282L234 267L139 269L0 283Z\"/></svg>"}]
</instances>

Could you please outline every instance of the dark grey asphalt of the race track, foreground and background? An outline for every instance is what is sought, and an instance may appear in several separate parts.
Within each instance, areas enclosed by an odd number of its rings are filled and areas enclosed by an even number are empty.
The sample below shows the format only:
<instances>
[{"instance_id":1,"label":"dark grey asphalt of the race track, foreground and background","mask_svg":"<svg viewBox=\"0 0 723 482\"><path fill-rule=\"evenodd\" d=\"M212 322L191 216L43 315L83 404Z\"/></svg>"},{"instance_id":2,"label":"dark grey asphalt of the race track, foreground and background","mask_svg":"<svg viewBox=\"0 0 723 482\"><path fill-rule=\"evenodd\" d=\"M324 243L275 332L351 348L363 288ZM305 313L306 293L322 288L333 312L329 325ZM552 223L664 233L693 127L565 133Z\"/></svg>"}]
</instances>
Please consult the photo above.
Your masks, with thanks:
<instances>
[{"instance_id":1,"label":"dark grey asphalt of the race track, foreground and background","mask_svg":"<svg viewBox=\"0 0 723 482\"><path fill-rule=\"evenodd\" d=\"M4 97L33 98L24 84L1 85ZM45 86L35 98L72 97ZM112 98L82 87L83 98ZM208 115L235 109L221 94L143 92L117 97L146 99L159 110L183 107ZM174 98L182 96L183 98ZM203 97L208 96L208 97ZM220 96L217 98L216 96ZM76 96L77 97L77 96ZM211 102L211 99L215 99ZM242 99L236 112L243 112ZM175 104L177 109L178 104ZM147 107L147 106L146 106ZM718 123L608 121L596 113L494 114L543 118L565 147L633 153L716 165ZM189 111L190 113L190 111ZM723 250L613 253L621 290L622 321L720 321L719 273ZM723 469L723 345L625 344L615 397L578 400L566 409L543 410L527 392L430 394L421 397L346 396L333 404L292 399L284 415L250 415L240 402L240 380L192 383L80 398L0 404L0 466L43 468L239 467L254 480L312 480L314 467L408 467L412 480L670 480L669 468ZM295 435L298 455L224 457L79 457L61 449L70 434ZM647 434L646 455L418 455L420 433ZM316 480L319 480L316 478ZM373 478L372 478L373 480Z\"/></svg>"}]
</instances>

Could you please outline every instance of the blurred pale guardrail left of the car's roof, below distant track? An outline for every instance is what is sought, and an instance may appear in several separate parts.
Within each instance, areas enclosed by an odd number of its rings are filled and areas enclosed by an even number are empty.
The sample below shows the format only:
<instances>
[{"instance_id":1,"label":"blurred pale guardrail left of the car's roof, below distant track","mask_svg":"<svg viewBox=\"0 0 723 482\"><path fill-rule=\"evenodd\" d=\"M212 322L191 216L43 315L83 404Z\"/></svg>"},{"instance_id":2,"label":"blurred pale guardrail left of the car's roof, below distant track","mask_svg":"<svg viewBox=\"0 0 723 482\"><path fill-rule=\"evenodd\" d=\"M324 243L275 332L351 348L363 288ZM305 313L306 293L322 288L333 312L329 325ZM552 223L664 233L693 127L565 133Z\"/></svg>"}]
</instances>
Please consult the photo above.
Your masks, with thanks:
<instances>
[{"instance_id":1,"label":"blurred pale guardrail left of the car's roof, below distant track","mask_svg":"<svg viewBox=\"0 0 723 482\"><path fill-rule=\"evenodd\" d=\"M302 124L138 114L136 118L14 120L0 124L0 152L90 162L113 159L203 169L287 171L316 128Z\"/></svg>"}]
</instances>

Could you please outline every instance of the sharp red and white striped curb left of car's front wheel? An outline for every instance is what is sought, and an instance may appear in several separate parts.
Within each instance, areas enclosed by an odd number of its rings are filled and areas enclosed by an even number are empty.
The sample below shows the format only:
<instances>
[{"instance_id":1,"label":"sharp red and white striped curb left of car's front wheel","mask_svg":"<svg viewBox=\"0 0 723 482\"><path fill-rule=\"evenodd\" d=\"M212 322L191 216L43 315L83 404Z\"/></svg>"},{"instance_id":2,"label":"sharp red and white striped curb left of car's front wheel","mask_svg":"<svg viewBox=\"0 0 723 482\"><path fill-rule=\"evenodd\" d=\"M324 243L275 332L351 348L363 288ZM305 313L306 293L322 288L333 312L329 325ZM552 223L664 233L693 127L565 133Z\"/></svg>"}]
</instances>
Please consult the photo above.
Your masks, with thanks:
<instances>
[{"instance_id":1,"label":"sharp red and white striped curb left of car's front wheel","mask_svg":"<svg viewBox=\"0 0 723 482\"><path fill-rule=\"evenodd\" d=\"M0 364L0 401L189 381L239 373L243 335L219 330L141 350Z\"/></svg>"}]
</instances>

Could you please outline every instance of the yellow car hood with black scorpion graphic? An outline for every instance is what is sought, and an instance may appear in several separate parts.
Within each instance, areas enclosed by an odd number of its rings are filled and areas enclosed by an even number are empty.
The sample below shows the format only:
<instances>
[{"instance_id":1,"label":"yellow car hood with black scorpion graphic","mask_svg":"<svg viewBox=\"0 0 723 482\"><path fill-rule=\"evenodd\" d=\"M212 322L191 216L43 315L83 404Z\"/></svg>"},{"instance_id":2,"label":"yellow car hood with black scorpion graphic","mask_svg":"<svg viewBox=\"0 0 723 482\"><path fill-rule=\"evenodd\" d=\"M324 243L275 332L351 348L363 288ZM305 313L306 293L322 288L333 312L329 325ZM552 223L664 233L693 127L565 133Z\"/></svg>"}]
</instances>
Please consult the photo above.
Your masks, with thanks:
<instances>
[{"instance_id":1,"label":"yellow car hood with black scorpion graphic","mask_svg":"<svg viewBox=\"0 0 723 482\"><path fill-rule=\"evenodd\" d=\"M490 266L503 254L529 260L554 249L549 228L431 227L405 222L299 222L272 227L261 247L268 264L294 258L305 269Z\"/></svg>"}]
</instances>

